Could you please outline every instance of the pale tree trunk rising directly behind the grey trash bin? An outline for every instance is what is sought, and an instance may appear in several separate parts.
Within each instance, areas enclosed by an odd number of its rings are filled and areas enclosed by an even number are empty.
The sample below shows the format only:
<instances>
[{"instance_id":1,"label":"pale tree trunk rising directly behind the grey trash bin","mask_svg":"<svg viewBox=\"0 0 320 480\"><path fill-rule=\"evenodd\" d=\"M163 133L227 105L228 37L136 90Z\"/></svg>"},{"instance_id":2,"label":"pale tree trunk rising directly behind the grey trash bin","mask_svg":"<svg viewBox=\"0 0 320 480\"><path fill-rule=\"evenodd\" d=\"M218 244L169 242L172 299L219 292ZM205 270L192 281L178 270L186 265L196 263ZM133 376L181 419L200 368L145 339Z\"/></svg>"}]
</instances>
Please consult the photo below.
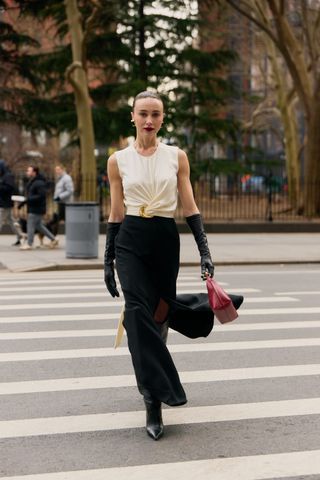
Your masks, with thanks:
<instances>
[{"instance_id":1,"label":"pale tree trunk rising directly behind the grey trash bin","mask_svg":"<svg viewBox=\"0 0 320 480\"><path fill-rule=\"evenodd\" d=\"M96 200L97 173L94 155L94 130L87 74L83 64L83 30L77 0L64 0L71 35L73 63L68 67L68 79L73 86L77 111L81 156L81 197Z\"/></svg>"}]
</instances>

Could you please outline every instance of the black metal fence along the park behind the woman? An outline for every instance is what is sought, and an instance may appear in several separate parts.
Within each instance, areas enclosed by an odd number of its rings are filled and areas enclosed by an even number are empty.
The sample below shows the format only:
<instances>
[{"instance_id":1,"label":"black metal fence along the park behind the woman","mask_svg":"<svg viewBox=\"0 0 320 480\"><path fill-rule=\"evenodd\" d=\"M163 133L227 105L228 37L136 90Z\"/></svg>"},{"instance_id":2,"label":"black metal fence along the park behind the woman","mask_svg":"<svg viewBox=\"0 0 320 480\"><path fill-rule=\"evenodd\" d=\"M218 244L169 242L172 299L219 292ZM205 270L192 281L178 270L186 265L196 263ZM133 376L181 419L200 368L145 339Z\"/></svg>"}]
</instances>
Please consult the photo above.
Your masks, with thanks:
<instances>
[{"instance_id":1,"label":"black metal fence along the park behind the woman","mask_svg":"<svg viewBox=\"0 0 320 480\"><path fill-rule=\"evenodd\" d=\"M54 178L48 180L47 212L56 209L53 202ZM87 179L87 181L91 181ZM20 193L23 194L25 179L18 178ZM316 186L317 187L317 186ZM320 188L317 187L317 189ZM245 177L230 179L226 176L206 176L193 186L197 206L205 221L293 221L302 220L290 202L287 184L280 177ZM97 201L100 204L100 219L106 220L110 212L110 190L105 176L98 176ZM80 198L79 186L75 200ZM176 219L183 219L180 202Z\"/></svg>"}]
</instances>

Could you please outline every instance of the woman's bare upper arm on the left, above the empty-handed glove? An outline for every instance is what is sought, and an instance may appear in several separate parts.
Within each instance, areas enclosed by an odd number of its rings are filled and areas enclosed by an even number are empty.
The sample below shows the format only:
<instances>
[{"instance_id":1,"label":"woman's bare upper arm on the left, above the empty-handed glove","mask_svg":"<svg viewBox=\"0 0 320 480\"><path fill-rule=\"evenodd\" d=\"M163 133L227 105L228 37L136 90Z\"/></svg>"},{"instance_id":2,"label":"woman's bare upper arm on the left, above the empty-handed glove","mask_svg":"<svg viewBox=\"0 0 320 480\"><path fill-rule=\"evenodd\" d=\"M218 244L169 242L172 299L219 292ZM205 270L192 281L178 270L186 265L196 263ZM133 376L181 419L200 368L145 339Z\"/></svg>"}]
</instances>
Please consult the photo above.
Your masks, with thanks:
<instances>
[{"instance_id":1,"label":"woman's bare upper arm on the left, above the empty-handed glove","mask_svg":"<svg viewBox=\"0 0 320 480\"><path fill-rule=\"evenodd\" d=\"M115 155L108 159L111 208L108 222L122 222L124 218L123 188Z\"/></svg>"}]
</instances>

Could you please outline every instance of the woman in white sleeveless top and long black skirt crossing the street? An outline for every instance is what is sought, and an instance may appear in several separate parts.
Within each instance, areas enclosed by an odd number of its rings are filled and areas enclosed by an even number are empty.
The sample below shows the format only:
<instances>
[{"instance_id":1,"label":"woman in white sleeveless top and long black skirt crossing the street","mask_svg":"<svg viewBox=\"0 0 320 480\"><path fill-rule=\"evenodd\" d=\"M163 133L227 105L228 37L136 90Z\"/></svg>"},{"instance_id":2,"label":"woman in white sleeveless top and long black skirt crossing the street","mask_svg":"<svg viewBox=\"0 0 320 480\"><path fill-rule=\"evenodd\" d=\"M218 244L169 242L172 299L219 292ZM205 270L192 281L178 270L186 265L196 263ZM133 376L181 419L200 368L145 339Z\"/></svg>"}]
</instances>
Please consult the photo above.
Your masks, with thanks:
<instances>
[{"instance_id":1,"label":"woman in white sleeveless top and long black skirt crossing the street","mask_svg":"<svg viewBox=\"0 0 320 480\"><path fill-rule=\"evenodd\" d=\"M111 211L105 283L113 297L119 296L116 260L125 299L123 325L146 407L146 430L158 440L163 434L161 402L170 406L187 402L166 346L168 303L176 298L179 270L179 234L173 218L177 193L198 245L203 279L213 276L214 265L193 197L187 155L157 138L164 119L160 96L141 92L131 115L136 128L134 145L108 159Z\"/></svg>"}]
</instances>

